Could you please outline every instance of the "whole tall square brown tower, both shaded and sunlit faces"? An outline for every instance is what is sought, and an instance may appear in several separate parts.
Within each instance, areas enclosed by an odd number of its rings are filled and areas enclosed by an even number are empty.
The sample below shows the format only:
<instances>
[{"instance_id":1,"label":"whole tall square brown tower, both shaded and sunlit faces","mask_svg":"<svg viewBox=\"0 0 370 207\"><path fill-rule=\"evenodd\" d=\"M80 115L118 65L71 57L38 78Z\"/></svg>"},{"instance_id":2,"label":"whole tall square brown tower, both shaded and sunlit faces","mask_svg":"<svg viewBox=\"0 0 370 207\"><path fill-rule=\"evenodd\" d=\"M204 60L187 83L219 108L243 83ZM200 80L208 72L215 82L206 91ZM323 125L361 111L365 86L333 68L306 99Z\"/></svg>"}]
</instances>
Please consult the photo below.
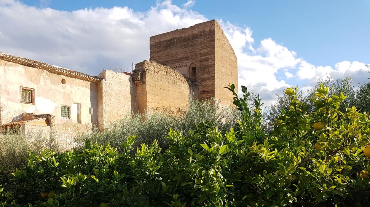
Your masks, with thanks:
<instances>
[{"instance_id":1,"label":"whole tall square brown tower, both shaded and sunlit faces","mask_svg":"<svg viewBox=\"0 0 370 207\"><path fill-rule=\"evenodd\" d=\"M184 75L195 99L216 97L221 105L232 103L224 87L231 82L238 88L238 64L216 20L150 37L150 60Z\"/></svg>"}]
</instances>

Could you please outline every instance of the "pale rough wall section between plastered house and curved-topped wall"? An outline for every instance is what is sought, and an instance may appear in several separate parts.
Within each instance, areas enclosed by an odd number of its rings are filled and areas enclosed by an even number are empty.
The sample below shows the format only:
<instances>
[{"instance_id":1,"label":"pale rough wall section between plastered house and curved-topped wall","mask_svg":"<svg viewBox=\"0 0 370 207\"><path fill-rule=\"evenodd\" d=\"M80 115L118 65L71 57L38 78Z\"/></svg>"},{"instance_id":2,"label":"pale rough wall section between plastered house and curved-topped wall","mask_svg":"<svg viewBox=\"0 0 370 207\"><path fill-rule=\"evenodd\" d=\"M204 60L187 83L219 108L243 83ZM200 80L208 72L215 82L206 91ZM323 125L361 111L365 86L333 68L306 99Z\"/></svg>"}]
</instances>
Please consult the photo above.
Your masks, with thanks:
<instances>
[{"instance_id":1,"label":"pale rough wall section between plastered house and curved-topped wall","mask_svg":"<svg viewBox=\"0 0 370 207\"><path fill-rule=\"evenodd\" d=\"M99 75L98 127L103 129L131 113L132 81L129 74L103 70Z\"/></svg>"}]
</instances>

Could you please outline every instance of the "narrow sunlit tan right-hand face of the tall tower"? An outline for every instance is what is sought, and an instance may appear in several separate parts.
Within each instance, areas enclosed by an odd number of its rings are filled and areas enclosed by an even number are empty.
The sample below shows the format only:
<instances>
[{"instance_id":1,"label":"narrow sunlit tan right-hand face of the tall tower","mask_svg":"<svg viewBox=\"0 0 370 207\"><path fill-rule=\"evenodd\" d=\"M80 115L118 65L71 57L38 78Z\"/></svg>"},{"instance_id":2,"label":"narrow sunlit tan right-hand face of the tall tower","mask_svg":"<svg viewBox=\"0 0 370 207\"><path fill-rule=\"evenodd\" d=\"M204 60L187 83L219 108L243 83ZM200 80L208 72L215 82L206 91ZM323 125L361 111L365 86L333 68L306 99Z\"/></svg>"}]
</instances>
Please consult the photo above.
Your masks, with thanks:
<instances>
[{"instance_id":1,"label":"narrow sunlit tan right-hand face of the tall tower","mask_svg":"<svg viewBox=\"0 0 370 207\"><path fill-rule=\"evenodd\" d=\"M229 83L238 89L238 63L229 40L215 21L215 97L221 105L231 105L233 95L225 89Z\"/></svg>"}]
</instances>

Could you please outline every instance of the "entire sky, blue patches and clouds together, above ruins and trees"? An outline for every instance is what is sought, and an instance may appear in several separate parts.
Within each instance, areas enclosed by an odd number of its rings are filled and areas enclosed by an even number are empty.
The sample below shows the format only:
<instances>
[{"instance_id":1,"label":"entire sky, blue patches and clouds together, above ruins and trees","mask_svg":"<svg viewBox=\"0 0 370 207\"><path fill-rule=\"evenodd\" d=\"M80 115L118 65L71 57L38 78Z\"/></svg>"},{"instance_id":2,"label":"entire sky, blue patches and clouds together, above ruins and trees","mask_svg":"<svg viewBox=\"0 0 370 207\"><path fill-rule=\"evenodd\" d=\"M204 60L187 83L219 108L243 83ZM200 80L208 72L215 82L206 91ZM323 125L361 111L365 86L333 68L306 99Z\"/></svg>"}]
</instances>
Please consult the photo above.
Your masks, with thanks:
<instances>
[{"instance_id":1,"label":"entire sky, blue patches and clouds together, above ruins and trees","mask_svg":"<svg viewBox=\"0 0 370 207\"><path fill-rule=\"evenodd\" d=\"M292 85L367 81L370 1L0 0L0 51L96 76L149 59L149 37L219 21L239 86L266 104Z\"/></svg>"}]
</instances>

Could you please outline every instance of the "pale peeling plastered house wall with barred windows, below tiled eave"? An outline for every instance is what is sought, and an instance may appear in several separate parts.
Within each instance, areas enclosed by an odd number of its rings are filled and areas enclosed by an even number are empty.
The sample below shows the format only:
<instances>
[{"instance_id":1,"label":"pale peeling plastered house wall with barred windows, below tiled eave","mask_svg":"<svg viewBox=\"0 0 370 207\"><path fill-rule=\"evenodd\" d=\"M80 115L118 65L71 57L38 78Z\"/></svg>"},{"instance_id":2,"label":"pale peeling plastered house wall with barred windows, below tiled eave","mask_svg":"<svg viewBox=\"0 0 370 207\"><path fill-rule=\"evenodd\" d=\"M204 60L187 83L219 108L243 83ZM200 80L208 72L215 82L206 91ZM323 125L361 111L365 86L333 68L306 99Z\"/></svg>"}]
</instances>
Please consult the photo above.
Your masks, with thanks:
<instances>
[{"instance_id":1,"label":"pale peeling plastered house wall with barred windows, below tiled eave","mask_svg":"<svg viewBox=\"0 0 370 207\"><path fill-rule=\"evenodd\" d=\"M35 104L20 103L21 86L34 89ZM97 96L95 82L0 60L0 124L19 121L26 112L55 116L57 131L85 130L98 122ZM78 114L72 107L74 103L80 104L80 119L73 117ZM70 119L61 117L61 105L70 106Z\"/></svg>"}]
</instances>

